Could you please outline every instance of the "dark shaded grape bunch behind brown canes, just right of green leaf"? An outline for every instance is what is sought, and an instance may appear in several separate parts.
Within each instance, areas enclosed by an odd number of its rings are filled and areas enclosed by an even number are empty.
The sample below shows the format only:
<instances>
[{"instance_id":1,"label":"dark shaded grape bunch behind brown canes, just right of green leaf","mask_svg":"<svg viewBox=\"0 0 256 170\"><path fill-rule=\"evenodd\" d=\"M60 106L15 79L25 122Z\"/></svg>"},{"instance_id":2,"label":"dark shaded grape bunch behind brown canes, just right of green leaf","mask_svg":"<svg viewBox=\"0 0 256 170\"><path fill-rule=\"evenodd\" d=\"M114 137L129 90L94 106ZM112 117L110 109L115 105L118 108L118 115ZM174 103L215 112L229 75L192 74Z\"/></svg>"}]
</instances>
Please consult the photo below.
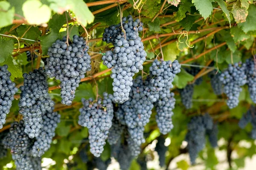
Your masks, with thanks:
<instances>
[{"instance_id":1,"label":"dark shaded grape bunch behind brown canes, just right of green leaf","mask_svg":"<svg viewBox=\"0 0 256 170\"><path fill-rule=\"evenodd\" d=\"M196 65L196 63L194 63ZM192 67L190 69L186 69L189 74L193 76L197 75L200 71L198 67ZM195 80L195 83L186 85L185 88L180 89L180 97L181 102L185 106L186 109L190 109L192 107L192 97L194 94L194 86L200 85L203 82L203 77L200 77Z\"/></svg>"}]
</instances>

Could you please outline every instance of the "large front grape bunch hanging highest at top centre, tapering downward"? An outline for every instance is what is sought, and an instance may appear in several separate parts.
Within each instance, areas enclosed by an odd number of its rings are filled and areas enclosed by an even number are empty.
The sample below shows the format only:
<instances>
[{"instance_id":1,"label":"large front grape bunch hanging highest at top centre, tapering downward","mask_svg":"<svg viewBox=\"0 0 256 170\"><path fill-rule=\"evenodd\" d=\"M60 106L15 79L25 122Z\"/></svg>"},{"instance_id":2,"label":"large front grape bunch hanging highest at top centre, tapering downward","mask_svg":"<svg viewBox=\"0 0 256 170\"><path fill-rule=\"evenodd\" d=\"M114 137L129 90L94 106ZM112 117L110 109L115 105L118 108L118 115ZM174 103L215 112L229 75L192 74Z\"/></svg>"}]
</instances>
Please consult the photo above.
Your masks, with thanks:
<instances>
[{"instance_id":1,"label":"large front grape bunch hanging highest at top centre, tapering downward","mask_svg":"<svg viewBox=\"0 0 256 170\"><path fill-rule=\"evenodd\" d=\"M113 96L116 103L124 103L128 100L132 77L143 70L143 62L147 54L138 36L138 31L142 30L143 23L139 19L134 21L129 15L122 18L122 23L106 28L103 33L102 40L107 43L112 42L114 45L113 52L107 51L102 60L104 65L112 68Z\"/></svg>"}]
</instances>

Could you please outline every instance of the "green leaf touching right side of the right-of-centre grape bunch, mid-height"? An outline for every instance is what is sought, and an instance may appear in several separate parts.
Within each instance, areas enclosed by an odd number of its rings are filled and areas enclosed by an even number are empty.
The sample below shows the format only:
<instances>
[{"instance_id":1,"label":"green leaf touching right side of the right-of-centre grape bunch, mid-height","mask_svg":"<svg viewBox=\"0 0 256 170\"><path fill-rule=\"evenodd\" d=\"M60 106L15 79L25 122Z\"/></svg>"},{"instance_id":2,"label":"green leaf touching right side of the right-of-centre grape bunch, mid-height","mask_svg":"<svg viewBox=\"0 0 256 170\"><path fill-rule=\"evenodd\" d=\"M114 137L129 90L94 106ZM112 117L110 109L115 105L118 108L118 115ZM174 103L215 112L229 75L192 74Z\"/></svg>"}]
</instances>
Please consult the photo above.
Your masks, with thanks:
<instances>
[{"instance_id":1,"label":"green leaf touching right side of the right-of-centre grape bunch, mid-height","mask_svg":"<svg viewBox=\"0 0 256 170\"><path fill-rule=\"evenodd\" d=\"M180 73L177 74L174 78L173 85L177 86L177 88L184 88L194 79L194 76L186 72L184 69L181 69Z\"/></svg>"}]
</instances>

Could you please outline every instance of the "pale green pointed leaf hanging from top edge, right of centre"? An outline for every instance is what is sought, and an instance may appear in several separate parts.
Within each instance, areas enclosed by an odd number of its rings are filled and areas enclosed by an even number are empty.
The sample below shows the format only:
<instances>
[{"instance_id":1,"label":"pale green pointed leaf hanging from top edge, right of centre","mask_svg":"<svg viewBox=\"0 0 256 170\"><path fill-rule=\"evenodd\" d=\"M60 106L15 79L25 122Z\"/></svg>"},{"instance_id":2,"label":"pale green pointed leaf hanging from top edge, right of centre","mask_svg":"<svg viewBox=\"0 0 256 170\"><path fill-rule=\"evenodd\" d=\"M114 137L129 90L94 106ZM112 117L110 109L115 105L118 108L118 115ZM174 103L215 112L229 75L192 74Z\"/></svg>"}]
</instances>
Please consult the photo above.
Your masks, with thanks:
<instances>
[{"instance_id":1,"label":"pale green pointed leaf hanging from top edge, right of centre","mask_svg":"<svg viewBox=\"0 0 256 170\"><path fill-rule=\"evenodd\" d=\"M192 0L192 3L195 4L195 8L204 17L204 20L212 14L212 0Z\"/></svg>"}]
</instances>

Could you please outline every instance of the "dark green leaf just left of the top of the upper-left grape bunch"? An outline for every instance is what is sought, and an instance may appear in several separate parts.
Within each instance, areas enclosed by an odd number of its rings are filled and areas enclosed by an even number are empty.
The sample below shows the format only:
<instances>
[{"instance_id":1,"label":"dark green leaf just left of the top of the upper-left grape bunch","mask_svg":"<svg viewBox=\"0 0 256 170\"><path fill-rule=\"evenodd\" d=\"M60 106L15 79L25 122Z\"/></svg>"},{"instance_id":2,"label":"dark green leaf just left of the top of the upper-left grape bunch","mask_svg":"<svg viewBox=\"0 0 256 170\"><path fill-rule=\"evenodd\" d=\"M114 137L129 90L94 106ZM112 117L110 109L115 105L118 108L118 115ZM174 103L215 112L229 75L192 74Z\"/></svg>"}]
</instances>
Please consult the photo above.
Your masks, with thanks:
<instances>
[{"instance_id":1,"label":"dark green leaf just left of the top of the upper-left grape bunch","mask_svg":"<svg viewBox=\"0 0 256 170\"><path fill-rule=\"evenodd\" d=\"M48 48L52 45L53 42L57 40L57 38L58 33L56 32L51 32L39 38L39 40L41 41L43 55L47 54Z\"/></svg>"}]
</instances>

